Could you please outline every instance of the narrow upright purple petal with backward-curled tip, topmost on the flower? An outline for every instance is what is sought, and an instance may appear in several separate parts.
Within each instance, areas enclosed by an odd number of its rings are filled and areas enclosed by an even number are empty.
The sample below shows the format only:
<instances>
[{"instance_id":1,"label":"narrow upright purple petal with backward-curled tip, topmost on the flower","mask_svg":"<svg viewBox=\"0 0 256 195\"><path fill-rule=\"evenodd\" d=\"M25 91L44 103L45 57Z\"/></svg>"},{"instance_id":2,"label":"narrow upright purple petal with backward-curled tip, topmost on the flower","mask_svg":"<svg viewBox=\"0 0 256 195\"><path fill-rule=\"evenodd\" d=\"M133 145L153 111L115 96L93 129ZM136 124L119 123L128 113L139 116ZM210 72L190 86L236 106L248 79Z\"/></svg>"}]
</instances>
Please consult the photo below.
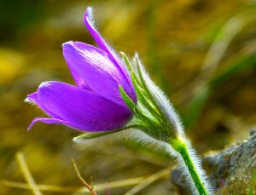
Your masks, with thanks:
<instances>
[{"instance_id":1,"label":"narrow upright purple petal with backward-curled tip, topmost on the flower","mask_svg":"<svg viewBox=\"0 0 256 195\"><path fill-rule=\"evenodd\" d=\"M108 44L104 41L104 39L101 37L100 33L96 31L95 27L93 26L93 19L92 19L92 9L89 7L86 9L84 14L84 25L90 32L91 36L95 39L96 43L99 45L99 47L104 50L109 58L113 61L114 66L117 67L120 74L123 76L123 79L127 83L127 87L125 87L125 92L131 97L131 100L133 100L135 103L137 103L137 95L135 93L135 90L132 87L131 84L131 78L125 69L124 62L119 59L119 56L111 49L111 47L108 46Z\"/></svg>"}]
</instances>

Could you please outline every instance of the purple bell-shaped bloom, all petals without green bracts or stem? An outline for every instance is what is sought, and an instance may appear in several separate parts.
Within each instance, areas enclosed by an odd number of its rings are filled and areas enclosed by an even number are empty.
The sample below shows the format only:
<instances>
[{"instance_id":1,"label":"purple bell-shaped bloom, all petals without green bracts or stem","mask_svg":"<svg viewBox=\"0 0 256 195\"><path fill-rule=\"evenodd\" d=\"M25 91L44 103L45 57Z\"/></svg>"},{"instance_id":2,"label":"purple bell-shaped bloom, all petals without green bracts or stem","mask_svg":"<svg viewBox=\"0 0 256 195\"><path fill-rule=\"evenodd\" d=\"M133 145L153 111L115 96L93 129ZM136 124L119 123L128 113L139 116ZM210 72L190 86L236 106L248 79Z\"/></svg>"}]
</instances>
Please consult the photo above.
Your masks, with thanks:
<instances>
[{"instance_id":1,"label":"purple bell-shaped bloom, all petals without green bracts or stem","mask_svg":"<svg viewBox=\"0 0 256 195\"><path fill-rule=\"evenodd\" d=\"M90 8L84 14L84 24L99 48L80 42L63 44L63 55L76 86L49 81L27 95L26 100L50 117L34 118L28 129L41 121L63 123L84 131L107 131L119 129L131 119L132 113L119 93L119 85L135 103L137 95L124 62L92 25Z\"/></svg>"}]
</instances>

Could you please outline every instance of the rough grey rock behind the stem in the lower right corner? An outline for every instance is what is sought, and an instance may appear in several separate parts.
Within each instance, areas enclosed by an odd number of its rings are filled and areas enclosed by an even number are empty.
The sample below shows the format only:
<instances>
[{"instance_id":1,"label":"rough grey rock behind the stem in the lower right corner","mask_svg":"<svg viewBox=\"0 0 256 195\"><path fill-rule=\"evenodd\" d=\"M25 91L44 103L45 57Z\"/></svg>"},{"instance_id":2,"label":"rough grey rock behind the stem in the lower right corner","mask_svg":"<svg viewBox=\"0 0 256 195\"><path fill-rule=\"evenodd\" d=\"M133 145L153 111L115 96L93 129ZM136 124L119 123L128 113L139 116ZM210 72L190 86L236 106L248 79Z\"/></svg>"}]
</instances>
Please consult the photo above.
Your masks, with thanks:
<instances>
[{"instance_id":1,"label":"rough grey rock behind the stem in the lower right corner","mask_svg":"<svg viewBox=\"0 0 256 195\"><path fill-rule=\"evenodd\" d=\"M202 164L215 188L214 194L256 194L256 129L247 140L207 155ZM179 169L172 170L171 181L180 194L189 194Z\"/></svg>"}]
</instances>

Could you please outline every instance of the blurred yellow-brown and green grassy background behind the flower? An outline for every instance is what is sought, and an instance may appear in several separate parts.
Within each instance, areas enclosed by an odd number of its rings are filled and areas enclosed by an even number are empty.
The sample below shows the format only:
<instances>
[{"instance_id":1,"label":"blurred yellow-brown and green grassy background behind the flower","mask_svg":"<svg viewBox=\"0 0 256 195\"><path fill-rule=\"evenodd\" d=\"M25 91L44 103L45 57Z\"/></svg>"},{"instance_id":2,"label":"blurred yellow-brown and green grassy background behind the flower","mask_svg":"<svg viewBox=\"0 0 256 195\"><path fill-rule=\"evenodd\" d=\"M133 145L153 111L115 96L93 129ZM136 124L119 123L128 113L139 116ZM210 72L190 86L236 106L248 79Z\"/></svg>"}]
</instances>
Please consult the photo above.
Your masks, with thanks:
<instances>
[{"instance_id":1,"label":"blurred yellow-brown and green grassy background behind the flower","mask_svg":"<svg viewBox=\"0 0 256 195\"><path fill-rule=\"evenodd\" d=\"M44 81L73 83L61 44L95 45L82 20L88 6L114 49L138 52L200 155L242 141L256 126L255 1L1 0L1 194L32 194L17 152L37 184L46 185L43 194L82 194L71 158L98 194L124 194L150 176L130 194L173 192L166 170L172 159L129 143L79 146L72 139L80 132L62 125L36 123L26 131L44 116L24 102L26 95Z\"/></svg>"}]
</instances>

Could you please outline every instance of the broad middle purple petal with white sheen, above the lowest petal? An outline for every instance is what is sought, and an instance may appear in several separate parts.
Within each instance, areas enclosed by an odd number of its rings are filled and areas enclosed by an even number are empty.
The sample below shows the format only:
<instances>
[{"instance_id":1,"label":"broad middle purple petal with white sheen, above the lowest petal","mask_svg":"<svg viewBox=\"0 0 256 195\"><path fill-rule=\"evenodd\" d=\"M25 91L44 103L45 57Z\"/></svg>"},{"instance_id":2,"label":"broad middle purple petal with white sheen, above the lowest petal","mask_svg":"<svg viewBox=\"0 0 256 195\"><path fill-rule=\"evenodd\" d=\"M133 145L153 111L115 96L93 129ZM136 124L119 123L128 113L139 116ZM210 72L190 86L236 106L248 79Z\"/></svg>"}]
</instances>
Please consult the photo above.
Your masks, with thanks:
<instances>
[{"instance_id":1,"label":"broad middle purple petal with white sheen, above the lowest petal","mask_svg":"<svg viewBox=\"0 0 256 195\"><path fill-rule=\"evenodd\" d=\"M85 84L85 89L125 106L119 84L125 90L129 87L104 51L85 43L67 42L63 44L63 54L79 87L84 88Z\"/></svg>"}]
</instances>

